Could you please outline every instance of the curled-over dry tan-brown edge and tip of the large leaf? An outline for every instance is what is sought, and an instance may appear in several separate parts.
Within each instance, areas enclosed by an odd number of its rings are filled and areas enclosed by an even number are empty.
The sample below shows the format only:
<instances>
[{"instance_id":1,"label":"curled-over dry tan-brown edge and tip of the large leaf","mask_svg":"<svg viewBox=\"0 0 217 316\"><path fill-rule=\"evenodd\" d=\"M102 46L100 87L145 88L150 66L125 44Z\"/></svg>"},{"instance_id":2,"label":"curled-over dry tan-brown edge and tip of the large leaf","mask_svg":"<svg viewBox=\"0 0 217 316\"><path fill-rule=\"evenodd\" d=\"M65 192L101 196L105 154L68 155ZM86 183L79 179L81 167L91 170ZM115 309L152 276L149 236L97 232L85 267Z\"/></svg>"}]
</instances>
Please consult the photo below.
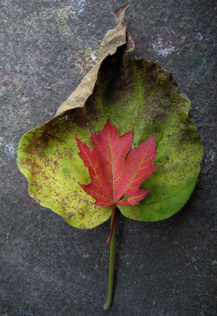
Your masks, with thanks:
<instances>
[{"instance_id":1,"label":"curled-over dry tan-brown edge and tip of the large leaf","mask_svg":"<svg viewBox=\"0 0 217 316\"><path fill-rule=\"evenodd\" d=\"M126 26L123 22L126 20L124 14L131 3L115 10L115 18L118 25L112 30L108 30L99 48L98 61L96 65L87 73L79 86L72 92L72 94L65 100L57 110L55 115L59 116L64 114L65 111L83 107L88 97L93 93L93 89L97 80L98 70L105 58L113 55L118 47L126 45L126 51L132 52L134 49L134 42L128 32L126 32Z\"/></svg>"}]
</instances>

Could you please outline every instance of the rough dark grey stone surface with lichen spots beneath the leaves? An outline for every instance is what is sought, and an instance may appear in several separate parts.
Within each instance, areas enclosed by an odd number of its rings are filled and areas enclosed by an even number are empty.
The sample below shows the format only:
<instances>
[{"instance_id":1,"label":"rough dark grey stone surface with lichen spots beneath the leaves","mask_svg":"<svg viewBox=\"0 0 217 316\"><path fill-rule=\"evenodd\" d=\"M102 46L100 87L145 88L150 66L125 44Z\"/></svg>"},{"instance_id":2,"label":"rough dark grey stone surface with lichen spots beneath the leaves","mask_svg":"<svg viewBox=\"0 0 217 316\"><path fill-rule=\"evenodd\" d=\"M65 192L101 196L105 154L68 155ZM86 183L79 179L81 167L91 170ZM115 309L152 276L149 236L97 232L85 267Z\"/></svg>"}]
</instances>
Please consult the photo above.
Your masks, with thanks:
<instances>
[{"instance_id":1,"label":"rough dark grey stone surface with lichen spots beneath the leaves","mask_svg":"<svg viewBox=\"0 0 217 316\"><path fill-rule=\"evenodd\" d=\"M115 27L117 1L0 3L0 315L217 315L215 1L133 1L133 55L158 61L192 102L204 158L175 216L137 222L117 214L115 287L105 312L110 222L69 226L28 195L16 163L22 135L55 115ZM52 90L41 85L50 86Z\"/></svg>"}]
</instances>

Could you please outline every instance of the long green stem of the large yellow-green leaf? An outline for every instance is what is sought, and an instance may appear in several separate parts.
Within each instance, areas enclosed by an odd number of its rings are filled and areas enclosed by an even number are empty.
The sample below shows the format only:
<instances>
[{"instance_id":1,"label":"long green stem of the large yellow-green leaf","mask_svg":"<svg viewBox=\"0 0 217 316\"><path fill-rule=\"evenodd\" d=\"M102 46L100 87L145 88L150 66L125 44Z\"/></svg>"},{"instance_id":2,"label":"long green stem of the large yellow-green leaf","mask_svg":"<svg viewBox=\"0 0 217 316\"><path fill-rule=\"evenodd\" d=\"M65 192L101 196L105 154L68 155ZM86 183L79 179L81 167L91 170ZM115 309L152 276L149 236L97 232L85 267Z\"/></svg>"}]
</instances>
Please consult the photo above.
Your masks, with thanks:
<instances>
[{"instance_id":1,"label":"long green stem of the large yellow-green leaf","mask_svg":"<svg viewBox=\"0 0 217 316\"><path fill-rule=\"evenodd\" d=\"M114 283L114 266L115 266L115 206L113 204L112 219L111 219L111 241L110 241L110 262L109 262L109 278L108 278L108 297L103 308L107 310L112 302L113 283ZM109 238L109 237L108 237Z\"/></svg>"}]
</instances>

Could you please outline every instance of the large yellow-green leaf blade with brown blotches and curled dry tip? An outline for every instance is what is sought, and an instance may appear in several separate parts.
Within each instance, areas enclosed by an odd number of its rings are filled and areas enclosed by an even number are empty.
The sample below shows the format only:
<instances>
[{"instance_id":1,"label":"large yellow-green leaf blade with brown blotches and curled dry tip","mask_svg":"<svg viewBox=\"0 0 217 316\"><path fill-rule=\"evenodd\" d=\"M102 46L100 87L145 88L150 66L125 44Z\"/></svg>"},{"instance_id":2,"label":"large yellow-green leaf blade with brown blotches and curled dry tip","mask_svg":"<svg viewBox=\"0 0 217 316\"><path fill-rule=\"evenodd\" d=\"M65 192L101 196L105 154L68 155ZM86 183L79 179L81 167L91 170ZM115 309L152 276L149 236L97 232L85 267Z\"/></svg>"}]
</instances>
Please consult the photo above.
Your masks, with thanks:
<instances>
[{"instance_id":1,"label":"large yellow-green leaf blade with brown blotches and curled dry tip","mask_svg":"<svg viewBox=\"0 0 217 316\"><path fill-rule=\"evenodd\" d=\"M189 199L200 171L203 146L188 118L189 99L177 96L177 83L158 63L127 56L134 47L122 23L128 6L116 10L118 25L103 39L96 66L56 116L28 131L18 148L30 196L77 228L101 224L112 208L95 205L80 187L90 177L73 134L92 146L90 133L101 131L109 118L120 135L133 129L133 146L138 147L156 131L153 164L158 169L140 186L152 191L139 205L119 206L135 220L158 221L175 214Z\"/></svg>"}]
</instances>

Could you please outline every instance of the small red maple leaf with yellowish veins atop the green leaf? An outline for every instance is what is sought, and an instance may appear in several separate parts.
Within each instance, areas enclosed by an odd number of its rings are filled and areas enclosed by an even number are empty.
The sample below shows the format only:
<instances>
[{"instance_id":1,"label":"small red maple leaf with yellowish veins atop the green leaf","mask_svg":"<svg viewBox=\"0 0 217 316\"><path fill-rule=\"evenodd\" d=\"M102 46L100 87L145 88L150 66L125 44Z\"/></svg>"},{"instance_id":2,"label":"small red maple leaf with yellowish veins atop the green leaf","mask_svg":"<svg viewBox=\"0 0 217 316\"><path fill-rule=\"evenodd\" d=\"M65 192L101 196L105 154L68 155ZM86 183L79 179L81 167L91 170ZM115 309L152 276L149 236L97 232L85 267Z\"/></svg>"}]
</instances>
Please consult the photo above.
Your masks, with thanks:
<instances>
[{"instance_id":1,"label":"small red maple leaf with yellowish veins atop the green leaf","mask_svg":"<svg viewBox=\"0 0 217 316\"><path fill-rule=\"evenodd\" d=\"M116 126L111 126L108 119L98 135L91 133L95 149L81 142L77 136L75 139L80 150L78 155L88 167L91 180L89 184L80 186L96 200L95 204L113 205L113 210L116 204L137 205L151 191L141 190L139 185L157 169L151 165L157 155L155 133L138 148L131 149L133 130L120 136Z\"/></svg>"}]
</instances>

